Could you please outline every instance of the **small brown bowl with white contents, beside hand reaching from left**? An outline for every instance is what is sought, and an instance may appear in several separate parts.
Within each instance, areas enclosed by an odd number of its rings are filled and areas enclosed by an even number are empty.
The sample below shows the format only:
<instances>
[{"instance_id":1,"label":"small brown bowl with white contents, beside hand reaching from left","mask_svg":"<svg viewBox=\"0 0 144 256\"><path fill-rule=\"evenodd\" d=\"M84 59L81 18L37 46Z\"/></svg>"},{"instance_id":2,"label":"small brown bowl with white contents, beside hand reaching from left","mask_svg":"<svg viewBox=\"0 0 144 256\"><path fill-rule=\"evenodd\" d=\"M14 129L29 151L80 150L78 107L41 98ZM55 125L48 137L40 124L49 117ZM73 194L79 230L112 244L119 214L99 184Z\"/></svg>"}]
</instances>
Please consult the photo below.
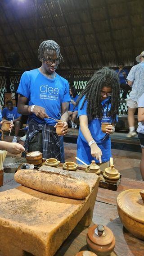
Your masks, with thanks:
<instances>
[{"instance_id":1,"label":"small brown bowl with white contents, beside hand reaching from left","mask_svg":"<svg viewBox=\"0 0 144 256\"><path fill-rule=\"evenodd\" d=\"M42 153L40 151L28 152L30 155L26 155L27 163L40 165L42 164Z\"/></svg>"}]
</instances>

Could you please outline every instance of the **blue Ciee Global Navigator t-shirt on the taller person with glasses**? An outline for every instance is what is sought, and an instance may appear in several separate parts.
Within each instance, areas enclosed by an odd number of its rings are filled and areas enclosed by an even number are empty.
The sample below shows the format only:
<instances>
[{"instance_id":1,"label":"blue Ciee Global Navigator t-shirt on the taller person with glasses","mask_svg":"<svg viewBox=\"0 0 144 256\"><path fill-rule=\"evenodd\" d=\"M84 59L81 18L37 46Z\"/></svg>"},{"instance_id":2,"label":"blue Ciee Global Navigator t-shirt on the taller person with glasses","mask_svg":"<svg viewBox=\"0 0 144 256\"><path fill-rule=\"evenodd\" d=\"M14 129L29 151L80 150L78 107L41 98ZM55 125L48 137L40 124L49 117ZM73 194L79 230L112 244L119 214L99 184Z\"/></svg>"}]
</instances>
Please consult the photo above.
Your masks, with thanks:
<instances>
[{"instance_id":1,"label":"blue Ciee Global Navigator t-shirt on the taller person with glasses","mask_svg":"<svg viewBox=\"0 0 144 256\"><path fill-rule=\"evenodd\" d=\"M65 78L58 74L54 79L45 77L38 69L23 73L17 93L28 99L28 105L38 105L45 108L49 117L60 119L61 105L71 100L69 96L69 84ZM30 118L37 123L55 125L53 119L40 119L35 114Z\"/></svg>"}]
</instances>

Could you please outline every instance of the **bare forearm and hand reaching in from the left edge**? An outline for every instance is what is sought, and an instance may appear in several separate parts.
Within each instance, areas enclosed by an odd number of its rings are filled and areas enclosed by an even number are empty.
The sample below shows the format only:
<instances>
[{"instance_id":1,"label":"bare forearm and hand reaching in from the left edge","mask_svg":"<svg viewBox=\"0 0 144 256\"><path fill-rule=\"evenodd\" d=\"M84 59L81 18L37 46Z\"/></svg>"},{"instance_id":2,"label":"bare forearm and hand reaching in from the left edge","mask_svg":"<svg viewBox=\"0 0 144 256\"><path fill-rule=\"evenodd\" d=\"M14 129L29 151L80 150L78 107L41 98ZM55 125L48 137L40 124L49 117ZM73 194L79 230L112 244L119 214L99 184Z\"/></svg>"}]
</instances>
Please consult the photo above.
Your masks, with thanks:
<instances>
[{"instance_id":1,"label":"bare forearm and hand reaching in from the left edge","mask_svg":"<svg viewBox=\"0 0 144 256\"><path fill-rule=\"evenodd\" d=\"M19 143L12 143L12 142L4 142L4 141L0 141L0 150L6 150L11 154L19 154L23 151L25 151L25 148L19 144Z\"/></svg>"}]
</instances>

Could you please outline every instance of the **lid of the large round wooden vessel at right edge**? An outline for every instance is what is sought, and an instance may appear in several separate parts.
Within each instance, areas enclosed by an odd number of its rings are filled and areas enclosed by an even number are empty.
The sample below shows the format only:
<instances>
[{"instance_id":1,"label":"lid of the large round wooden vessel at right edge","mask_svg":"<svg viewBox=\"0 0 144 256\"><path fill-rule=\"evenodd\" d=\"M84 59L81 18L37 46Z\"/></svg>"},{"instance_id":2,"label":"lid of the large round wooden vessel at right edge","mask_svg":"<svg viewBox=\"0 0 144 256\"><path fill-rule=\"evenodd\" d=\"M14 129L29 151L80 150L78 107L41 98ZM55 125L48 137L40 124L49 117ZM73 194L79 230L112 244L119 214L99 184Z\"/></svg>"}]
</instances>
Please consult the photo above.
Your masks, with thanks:
<instances>
[{"instance_id":1,"label":"lid of the large round wooden vessel at right edge","mask_svg":"<svg viewBox=\"0 0 144 256\"><path fill-rule=\"evenodd\" d=\"M127 189L117 197L117 205L131 219L144 223L144 202L140 196L141 189Z\"/></svg>"}]
</instances>

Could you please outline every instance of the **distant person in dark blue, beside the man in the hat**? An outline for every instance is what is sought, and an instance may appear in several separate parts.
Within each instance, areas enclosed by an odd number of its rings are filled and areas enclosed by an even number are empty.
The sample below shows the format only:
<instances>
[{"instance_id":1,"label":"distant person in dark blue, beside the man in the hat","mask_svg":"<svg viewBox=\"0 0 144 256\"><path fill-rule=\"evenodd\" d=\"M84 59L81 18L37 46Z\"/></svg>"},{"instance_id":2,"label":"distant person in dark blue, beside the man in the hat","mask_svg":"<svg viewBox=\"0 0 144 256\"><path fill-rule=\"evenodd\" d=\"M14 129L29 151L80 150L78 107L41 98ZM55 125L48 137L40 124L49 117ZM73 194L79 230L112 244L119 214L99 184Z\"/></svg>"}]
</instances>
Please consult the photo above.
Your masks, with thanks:
<instances>
[{"instance_id":1,"label":"distant person in dark blue, beside the man in the hat","mask_svg":"<svg viewBox=\"0 0 144 256\"><path fill-rule=\"evenodd\" d=\"M127 69L124 69L124 63L120 62L118 64L119 69L116 70L119 80L120 88L123 90L122 100L126 100L128 91L131 91L131 87L126 83L126 77L128 75Z\"/></svg>"}]
</instances>

